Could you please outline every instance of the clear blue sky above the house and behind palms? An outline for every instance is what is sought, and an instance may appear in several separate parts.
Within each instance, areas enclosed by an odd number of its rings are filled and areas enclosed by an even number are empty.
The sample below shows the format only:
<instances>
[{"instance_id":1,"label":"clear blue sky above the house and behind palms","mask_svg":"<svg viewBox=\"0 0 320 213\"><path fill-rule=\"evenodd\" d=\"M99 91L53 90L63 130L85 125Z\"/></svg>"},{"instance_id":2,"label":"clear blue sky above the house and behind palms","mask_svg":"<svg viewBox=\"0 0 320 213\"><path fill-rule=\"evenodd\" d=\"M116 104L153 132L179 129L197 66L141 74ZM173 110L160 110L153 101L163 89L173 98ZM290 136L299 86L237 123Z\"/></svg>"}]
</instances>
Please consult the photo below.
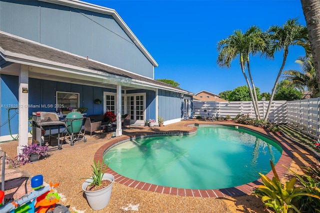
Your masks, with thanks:
<instances>
[{"instance_id":1,"label":"clear blue sky above the house and behind palms","mask_svg":"<svg viewBox=\"0 0 320 213\"><path fill-rule=\"evenodd\" d=\"M235 29L257 25L266 30L289 18L305 24L300 0L85 0L115 9L159 64L154 77L173 79L180 87L218 94L246 85L238 59L230 68L216 64L216 44ZM281 66L283 52L274 60L251 57L255 86L270 92ZM300 70L294 62L304 55L291 47L284 70Z\"/></svg>"}]
</instances>

